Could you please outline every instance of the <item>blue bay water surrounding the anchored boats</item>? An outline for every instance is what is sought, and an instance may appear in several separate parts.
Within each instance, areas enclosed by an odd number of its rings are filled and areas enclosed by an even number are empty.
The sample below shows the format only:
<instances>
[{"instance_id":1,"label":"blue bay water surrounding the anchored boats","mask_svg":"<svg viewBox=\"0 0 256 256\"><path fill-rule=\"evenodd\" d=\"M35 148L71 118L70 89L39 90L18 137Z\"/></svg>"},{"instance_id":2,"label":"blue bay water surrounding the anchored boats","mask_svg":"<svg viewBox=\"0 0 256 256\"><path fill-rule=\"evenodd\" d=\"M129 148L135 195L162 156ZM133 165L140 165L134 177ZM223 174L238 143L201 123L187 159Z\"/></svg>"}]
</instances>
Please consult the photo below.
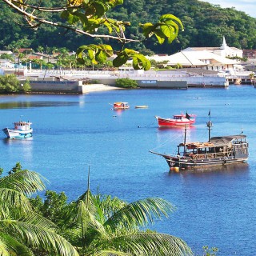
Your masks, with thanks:
<instances>
[{"instance_id":1,"label":"blue bay water surrounding the anchored boats","mask_svg":"<svg viewBox=\"0 0 256 256\"><path fill-rule=\"evenodd\" d=\"M161 197L177 210L150 229L185 240L198 255L202 246L216 246L218 255L256 254L256 140L254 86L228 89L111 90L85 95L0 96L1 126L20 117L33 122L31 140L6 140L2 133L0 166L16 162L37 171L47 189L65 191L76 199L90 186L127 202ZM125 101L129 110L111 110ZM148 109L134 109L148 105ZM212 136L240 134L250 142L247 164L206 172L169 173L160 156L149 150L174 153L184 130L160 129L154 118L181 112L197 115L187 138L206 141L211 112Z\"/></svg>"}]
</instances>

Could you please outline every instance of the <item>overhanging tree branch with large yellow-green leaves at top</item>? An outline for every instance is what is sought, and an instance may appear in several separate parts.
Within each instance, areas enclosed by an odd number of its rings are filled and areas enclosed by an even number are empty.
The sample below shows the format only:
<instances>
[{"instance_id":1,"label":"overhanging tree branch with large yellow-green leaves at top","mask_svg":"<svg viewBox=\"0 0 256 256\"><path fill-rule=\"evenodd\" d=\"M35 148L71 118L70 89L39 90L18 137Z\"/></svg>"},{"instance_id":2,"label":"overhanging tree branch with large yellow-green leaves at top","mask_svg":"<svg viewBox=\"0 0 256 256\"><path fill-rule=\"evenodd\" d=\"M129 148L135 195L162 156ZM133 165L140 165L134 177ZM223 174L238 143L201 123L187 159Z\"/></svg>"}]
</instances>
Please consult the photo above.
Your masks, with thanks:
<instances>
[{"instance_id":1,"label":"overhanging tree branch with large yellow-green leaves at top","mask_svg":"<svg viewBox=\"0 0 256 256\"><path fill-rule=\"evenodd\" d=\"M22 15L23 24L32 29L38 29L38 26L46 24L72 30L90 38L105 38L119 42L119 49L113 49L110 44L78 47L76 56L80 64L83 64L87 57L94 64L105 63L107 58L114 55L113 64L116 67L122 66L132 58L135 70L150 69L150 61L143 54L126 48L126 44L130 42L139 42L126 37L126 27L130 26L130 22L107 17L110 10L122 5L123 0L67 0L65 5L53 7L43 6L41 1L35 6L31 0L2 2ZM60 19L56 22L49 14L59 14ZM160 44L166 40L168 43L173 42L179 30L183 30L181 20L172 14L162 15L154 24L147 22L139 26L145 37L143 40L155 36ZM107 29L105 34L99 32L102 27Z\"/></svg>"}]
</instances>

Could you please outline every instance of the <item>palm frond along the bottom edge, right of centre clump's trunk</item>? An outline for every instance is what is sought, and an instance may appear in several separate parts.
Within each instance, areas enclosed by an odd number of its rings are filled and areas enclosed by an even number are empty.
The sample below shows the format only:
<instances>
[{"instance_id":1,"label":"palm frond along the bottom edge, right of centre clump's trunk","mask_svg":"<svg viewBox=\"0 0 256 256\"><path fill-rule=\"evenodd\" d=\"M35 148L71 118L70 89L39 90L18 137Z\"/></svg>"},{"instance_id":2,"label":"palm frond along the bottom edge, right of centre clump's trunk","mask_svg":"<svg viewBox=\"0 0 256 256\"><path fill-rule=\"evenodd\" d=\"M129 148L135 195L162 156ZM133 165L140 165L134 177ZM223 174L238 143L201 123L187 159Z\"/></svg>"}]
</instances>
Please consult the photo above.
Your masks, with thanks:
<instances>
[{"instance_id":1,"label":"palm frond along the bottom edge, right of centre clump's trunk","mask_svg":"<svg viewBox=\"0 0 256 256\"><path fill-rule=\"evenodd\" d=\"M193 255L186 242L169 234L137 233L113 238L108 245L133 255L190 256Z\"/></svg>"}]
</instances>

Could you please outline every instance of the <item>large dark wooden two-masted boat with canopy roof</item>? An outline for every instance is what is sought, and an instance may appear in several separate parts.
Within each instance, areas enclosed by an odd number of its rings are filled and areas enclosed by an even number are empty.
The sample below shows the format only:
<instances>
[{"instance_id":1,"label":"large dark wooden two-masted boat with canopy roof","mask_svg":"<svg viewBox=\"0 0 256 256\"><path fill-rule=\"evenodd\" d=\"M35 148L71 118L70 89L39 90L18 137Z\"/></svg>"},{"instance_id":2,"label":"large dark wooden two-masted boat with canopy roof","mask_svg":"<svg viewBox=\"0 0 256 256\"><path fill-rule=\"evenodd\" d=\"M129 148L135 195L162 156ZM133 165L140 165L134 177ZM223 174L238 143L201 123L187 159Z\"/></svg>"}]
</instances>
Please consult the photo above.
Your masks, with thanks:
<instances>
[{"instance_id":1,"label":"large dark wooden two-masted boat with canopy roof","mask_svg":"<svg viewBox=\"0 0 256 256\"><path fill-rule=\"evenodd\" d=\"M184 142L178 145L178 153L175 155L150 152L165 158L170 170L222 166L247 161L249 145L246 142L246 135L210 138L211 122L207 122L207 126L209 127L208 142L186 142L185 135Z\"/></svg>"}]
</instances>

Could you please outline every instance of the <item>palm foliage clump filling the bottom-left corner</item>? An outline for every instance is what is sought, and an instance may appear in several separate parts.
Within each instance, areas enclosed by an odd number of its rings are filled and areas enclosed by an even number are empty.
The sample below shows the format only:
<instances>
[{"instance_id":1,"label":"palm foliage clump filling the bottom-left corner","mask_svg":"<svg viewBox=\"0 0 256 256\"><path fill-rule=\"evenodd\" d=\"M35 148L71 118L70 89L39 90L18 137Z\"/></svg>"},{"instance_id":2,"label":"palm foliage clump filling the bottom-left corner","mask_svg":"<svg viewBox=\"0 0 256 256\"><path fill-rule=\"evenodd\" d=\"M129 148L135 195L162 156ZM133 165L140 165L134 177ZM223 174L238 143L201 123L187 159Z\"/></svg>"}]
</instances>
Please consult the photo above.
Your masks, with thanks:
<instances>
[{"instance_id":1,"label":"palm foliage clump filling the bottom-left corner","mask_svg":"<svg viewBox=\"0 0 256 256\"><path fill-rule=\"evenodd\" d=\"M2 171L1 171L2 172ZM45 189L39 174L22 170L17 163L9 175L0 178L0 254L78 255L56 231L57 226L37 214L27 198Z\"/></svg>"}]
</instances>

